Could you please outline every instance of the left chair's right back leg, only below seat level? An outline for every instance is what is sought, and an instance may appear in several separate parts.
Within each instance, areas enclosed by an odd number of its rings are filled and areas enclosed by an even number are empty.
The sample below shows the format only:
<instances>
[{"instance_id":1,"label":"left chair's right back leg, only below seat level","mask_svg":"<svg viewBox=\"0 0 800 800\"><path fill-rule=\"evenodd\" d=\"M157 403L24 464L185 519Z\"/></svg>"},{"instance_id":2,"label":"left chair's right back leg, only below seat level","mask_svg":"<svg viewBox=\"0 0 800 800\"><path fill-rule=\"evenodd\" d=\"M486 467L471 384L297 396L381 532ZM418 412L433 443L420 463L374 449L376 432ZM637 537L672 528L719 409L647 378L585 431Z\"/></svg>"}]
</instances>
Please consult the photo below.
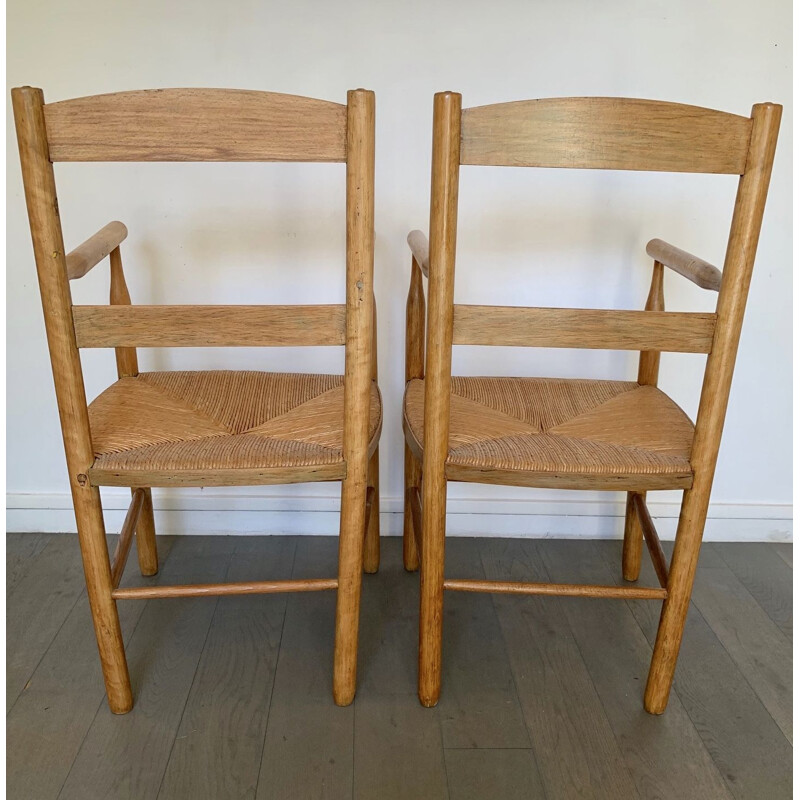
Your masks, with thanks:
<instances>
[{"instance_id":1,"label":"left chair's right back leg, only below seat level","mask_svg":"<svg viewBox=\"0 0 800 800\"><path fill-rule=\"evenodd\" d=\"M364 558L364 507L367 500L366 474L358 473L357 469L352 472L348 470L347 477L342 481L339 587L333 655L333 699L337 706L350 705L356 693L358 621Z\"/></svg>"}]
</instances>

